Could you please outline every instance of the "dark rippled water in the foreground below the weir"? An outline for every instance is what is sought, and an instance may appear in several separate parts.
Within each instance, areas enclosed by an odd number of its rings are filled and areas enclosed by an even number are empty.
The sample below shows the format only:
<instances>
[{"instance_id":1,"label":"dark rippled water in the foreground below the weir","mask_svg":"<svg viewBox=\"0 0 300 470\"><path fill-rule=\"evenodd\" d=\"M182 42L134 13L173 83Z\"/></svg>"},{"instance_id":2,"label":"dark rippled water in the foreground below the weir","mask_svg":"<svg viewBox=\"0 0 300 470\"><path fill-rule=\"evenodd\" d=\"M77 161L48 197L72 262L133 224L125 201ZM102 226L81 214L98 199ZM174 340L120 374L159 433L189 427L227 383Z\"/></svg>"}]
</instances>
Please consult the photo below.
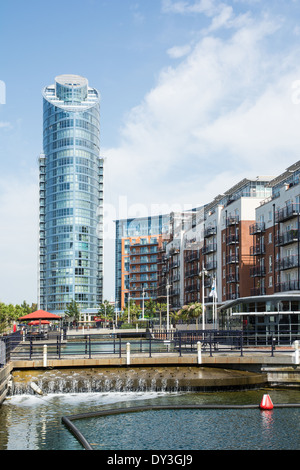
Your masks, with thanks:
<instances>
[{"instance_id":1,"label":"dark rippled water in the foreground below the weir","mask_svg":"<svg viewBox=\"0 0 300 470\"><path fill-rule=\"evenodd\" d=\"M300 391L18 395L0 407L0 450L82 450L62 416L144 404L300 403ZM300 408L163 410L78 420L95 450L299 450Z\"/></svg>"}]
</instances>

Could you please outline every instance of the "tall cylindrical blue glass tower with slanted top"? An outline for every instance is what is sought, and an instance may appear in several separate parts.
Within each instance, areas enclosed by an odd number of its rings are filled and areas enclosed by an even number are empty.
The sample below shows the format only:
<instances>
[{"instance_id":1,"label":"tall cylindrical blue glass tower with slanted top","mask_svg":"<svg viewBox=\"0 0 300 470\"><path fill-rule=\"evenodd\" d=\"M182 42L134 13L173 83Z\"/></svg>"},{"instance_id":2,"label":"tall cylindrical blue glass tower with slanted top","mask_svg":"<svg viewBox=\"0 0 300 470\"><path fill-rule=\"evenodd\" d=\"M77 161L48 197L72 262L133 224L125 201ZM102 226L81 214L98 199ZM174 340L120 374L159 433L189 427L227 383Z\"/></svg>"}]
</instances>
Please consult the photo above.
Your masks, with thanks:
<instances>
[{"instance_id":1,"label":"tall cylindrical blue glass tower with slanted top","mask_svg":"<svg viewBox=\"0 0 300 470\"><path fill-rule=\"evenodd\" d=\"M42 94L39 308L63 313L74 299L89 312L102 302L100 95L77 75Z\"/></svg>"}]
</instances>

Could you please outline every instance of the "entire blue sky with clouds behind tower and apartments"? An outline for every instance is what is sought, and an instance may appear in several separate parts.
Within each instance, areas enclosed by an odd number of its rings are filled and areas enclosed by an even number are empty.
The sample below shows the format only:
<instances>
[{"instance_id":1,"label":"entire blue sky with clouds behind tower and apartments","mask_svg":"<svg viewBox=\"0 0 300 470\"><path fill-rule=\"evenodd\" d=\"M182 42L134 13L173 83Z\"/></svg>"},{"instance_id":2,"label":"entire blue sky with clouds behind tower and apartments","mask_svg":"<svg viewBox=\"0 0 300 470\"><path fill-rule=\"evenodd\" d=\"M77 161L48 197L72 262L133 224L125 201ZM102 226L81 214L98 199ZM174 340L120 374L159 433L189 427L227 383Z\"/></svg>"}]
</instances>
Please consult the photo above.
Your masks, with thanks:
<instances>
[{"instance_id":1,"label":"entire blue sky with clouds behind tower and apartments","mask_svg":"<svg viewBox=\"0 0 300 470\"><path fill-rule=\"evenodd\" d=\"M101 93L111 298L113 219L300 159L299 18L298 0L1 1L0 301L36 300L45 85L75 73Z\"/></svg>"}]
</instances>

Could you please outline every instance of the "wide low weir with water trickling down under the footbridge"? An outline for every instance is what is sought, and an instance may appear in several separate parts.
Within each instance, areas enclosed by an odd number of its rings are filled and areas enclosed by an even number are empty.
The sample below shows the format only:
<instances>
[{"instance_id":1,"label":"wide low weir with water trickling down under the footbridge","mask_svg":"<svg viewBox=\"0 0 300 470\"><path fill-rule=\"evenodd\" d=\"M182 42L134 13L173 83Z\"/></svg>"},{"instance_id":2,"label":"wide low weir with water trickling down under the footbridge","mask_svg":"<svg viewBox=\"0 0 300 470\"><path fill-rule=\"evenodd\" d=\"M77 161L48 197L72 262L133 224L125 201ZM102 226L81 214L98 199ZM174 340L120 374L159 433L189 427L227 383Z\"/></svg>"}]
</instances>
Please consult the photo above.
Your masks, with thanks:
<instances>
[{"instance_id":1,"label":"wide low weir with water trickling down under the footbridge","mask_svg":"<svg viewBox=\"0 0 300 470\"><path fill-rule=\"evenodd\" d=\"M264 386L267 379L261 373L206 367L14 370L10 395L34 393L32 382L47 394L249 390Z\"/></svg>"}]
</instances>

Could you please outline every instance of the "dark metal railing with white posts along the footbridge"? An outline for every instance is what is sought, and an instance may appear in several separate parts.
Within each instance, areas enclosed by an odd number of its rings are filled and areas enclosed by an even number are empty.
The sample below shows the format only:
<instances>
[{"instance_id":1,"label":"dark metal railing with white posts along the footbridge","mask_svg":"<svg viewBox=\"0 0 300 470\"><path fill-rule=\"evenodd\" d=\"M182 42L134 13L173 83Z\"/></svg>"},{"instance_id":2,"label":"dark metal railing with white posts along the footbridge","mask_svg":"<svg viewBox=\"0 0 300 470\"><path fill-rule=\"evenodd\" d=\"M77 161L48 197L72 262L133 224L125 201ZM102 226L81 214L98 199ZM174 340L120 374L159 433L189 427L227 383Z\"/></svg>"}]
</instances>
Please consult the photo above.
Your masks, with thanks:
<instances>
[{"instance_id":1,"label":"dark metal railing with white posts along the footbridge","mask_svg":"<svg viewBox=\"0 0 300 470\"><path fill-rule=\"evenodd\" d=\"M294 335L294 341L300 340L300 335ZM127 344L130 352L135 355L152 357L157 354L195 354L199 343L201 352L209 356L218 354L268 354L276 352L290 353L293 344L278 343L276 335L260 335L253 337L239 330L197 330L197 331L159 331L149 338L122 338L121 335L85 334L68 336L58 335L55 339L44 341L36 338L9 337L6 339L6 360L33 360L42 358L47 348L47 357L52 359L64 358L95 358L97 356L122 357L126 355Z\"/></svg>"}]
</instances>

